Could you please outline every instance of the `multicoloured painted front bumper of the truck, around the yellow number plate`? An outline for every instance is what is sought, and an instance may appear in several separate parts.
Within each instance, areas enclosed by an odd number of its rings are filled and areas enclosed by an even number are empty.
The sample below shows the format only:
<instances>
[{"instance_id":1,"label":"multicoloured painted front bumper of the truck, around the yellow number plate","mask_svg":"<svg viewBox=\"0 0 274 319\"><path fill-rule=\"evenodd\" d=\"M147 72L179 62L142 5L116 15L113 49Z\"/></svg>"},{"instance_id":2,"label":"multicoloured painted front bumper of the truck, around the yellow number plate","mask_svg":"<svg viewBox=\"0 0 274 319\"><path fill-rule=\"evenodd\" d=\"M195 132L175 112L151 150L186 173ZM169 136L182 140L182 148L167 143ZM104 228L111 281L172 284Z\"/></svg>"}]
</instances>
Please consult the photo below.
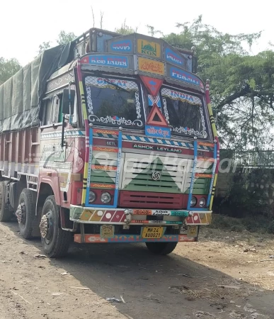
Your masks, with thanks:
<instances>
[{"instance_id":1,"label":"multicoloured painted front bumper of the truck, around the yellow number plate","mask_svg":"<svg viewBox=\"0 0 274 319\"><path fill-rule=\"evenodd\" d=\"M70 220L80 224L80 234L74 234L74 242L195 242L198 240L199 225L211 222L212 211L187 210L150 210L126 208L70 207ZM100 234L86 234L83 224L100 225ZM117 227L121 225L122 230ZM140 226L139 235L128 234L130 226ZM173 226L173 227L172 227ZM144 228L161 228L164 230L159 238L144 238ZM109 236L102 235L102 229L108 228ZM178 234L168 229L180 229ZM136 230L136 228L135 228ZM116 233L117 232L117 233Z\"/></svg>"}]
</instances>

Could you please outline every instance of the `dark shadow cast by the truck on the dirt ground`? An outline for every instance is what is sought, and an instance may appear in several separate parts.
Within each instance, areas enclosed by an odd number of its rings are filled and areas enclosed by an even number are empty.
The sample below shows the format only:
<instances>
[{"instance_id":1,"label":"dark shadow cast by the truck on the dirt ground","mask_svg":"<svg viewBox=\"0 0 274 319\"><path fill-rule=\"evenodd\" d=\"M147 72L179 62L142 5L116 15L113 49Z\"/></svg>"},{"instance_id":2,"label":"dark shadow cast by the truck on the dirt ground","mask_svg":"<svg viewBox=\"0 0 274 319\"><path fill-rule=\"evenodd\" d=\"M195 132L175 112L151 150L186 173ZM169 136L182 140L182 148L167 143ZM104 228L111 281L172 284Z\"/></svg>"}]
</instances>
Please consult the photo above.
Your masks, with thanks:
<instances>
[{"instance_id":1,"label":"dark shadow cast by the truck on the dirt ground","mask_svg":"<svg viewBox=\"0 0 274 319\"><path fill-rule=\"evenodd\" d=\"M6 225L18 234L16 223ZM41 249L39 239L26 242ZM189 253L184 257L185 244L179 245L169 256L156 256L142 244L73 244L66 258L50 263L101 298L123 296L125 304L113 304L127 318L274 318L273 292L193 262ZM199 243L191 245L195 250Z\"/></svg>"}]
</instances>

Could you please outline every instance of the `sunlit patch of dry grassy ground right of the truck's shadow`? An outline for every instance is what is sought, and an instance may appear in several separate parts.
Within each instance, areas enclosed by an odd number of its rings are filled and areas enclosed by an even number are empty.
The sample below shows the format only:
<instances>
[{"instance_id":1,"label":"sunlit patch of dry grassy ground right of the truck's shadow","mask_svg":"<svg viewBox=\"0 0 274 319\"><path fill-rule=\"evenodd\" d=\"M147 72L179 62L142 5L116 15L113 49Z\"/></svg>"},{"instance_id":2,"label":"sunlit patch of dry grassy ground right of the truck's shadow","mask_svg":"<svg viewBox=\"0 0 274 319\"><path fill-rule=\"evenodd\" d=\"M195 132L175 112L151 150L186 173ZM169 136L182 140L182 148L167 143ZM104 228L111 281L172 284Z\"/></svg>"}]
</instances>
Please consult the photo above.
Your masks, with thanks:
<instances>
[{"instance_id":1,"label":"sunlit patch of dry grassy ground right of the truck's shadow","mask_svg":"<svg viewBox=\"0 0 274 319\"><path fill-rule=\"evenodd\" d=\"M274 290L274 235L204 228L200 245L207 251L199 257L201 264L217 267L254 290Z\"/></svg>"}]
</instances>

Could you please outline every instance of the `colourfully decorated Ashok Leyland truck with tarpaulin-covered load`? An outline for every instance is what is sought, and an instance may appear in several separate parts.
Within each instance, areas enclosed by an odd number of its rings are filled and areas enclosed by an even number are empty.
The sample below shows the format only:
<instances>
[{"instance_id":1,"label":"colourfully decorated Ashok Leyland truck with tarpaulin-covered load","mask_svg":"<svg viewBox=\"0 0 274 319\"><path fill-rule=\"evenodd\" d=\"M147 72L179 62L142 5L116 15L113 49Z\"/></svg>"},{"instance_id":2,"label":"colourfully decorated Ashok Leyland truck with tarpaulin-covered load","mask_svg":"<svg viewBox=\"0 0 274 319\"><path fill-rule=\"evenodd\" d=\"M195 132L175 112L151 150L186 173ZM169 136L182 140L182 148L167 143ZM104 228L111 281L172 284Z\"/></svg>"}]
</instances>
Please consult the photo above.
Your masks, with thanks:
<instances>
[{"instance_id":1,"label":"colourfully decorated Ashok Leyland truck with tarpaulin-covered load","mask_svg":"<svg viewBox=\"0 0 274 319\"><path fill-rule=\"evenodd\" d=\"M77 243L169 254L210 224L219 145L195 47L92 28L0 86L0 221L50 257Z\"/></svg>"}]
</instances>

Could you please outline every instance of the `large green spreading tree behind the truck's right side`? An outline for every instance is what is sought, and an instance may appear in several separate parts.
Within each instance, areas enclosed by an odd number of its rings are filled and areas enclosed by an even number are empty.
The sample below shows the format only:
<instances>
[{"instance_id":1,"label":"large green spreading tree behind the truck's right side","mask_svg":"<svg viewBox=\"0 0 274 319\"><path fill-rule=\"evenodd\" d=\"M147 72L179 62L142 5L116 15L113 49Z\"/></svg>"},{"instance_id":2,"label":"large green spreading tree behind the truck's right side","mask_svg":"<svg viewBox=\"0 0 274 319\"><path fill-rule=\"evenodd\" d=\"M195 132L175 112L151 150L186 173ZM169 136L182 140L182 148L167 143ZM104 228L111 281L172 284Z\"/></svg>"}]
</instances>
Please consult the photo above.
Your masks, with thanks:
<instances>
[{"instance_id":1,"label":"large green spreading tree behind the truck's right side","mask_svg":"<svg viewBox=\"0 0 274 319\"><path fill-rule=\"evenodd\" d=\"M198 75L211 79L212 106L222 147L238 150L273 143L274 52L250 55L246 49L259 33L229 35L202 23L177 23L179 33L163 38L173 46L198 53Z\"/></svg>"}]
</instances>

